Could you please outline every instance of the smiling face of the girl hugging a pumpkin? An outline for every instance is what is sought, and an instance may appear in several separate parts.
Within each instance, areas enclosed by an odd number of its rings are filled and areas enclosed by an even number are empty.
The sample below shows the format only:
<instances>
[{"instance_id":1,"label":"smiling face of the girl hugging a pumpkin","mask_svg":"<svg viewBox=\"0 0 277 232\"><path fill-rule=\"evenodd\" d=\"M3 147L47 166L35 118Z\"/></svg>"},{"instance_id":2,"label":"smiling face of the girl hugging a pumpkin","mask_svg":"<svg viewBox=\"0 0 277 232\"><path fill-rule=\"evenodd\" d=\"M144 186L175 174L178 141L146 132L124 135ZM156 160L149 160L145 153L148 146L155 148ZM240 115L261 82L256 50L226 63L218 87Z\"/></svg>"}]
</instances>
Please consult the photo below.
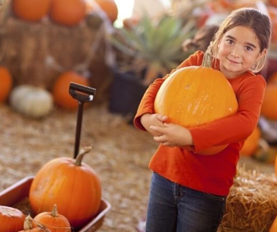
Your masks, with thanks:
<instances>
[{"instance_id":1,"label":"smiling face of the girl hugging a pumpkin","mask_svg":"<svg viewBox=\"0 0 277 232\"><path fill-rule=\"evenodd\" d=\"M249 70L256 60L266 55L266 52L267 49L260 52L259 39L252 29L235 26L227 31L220 41L220 71L227 78L237 77Z\"/></svg>"}]
</instances>

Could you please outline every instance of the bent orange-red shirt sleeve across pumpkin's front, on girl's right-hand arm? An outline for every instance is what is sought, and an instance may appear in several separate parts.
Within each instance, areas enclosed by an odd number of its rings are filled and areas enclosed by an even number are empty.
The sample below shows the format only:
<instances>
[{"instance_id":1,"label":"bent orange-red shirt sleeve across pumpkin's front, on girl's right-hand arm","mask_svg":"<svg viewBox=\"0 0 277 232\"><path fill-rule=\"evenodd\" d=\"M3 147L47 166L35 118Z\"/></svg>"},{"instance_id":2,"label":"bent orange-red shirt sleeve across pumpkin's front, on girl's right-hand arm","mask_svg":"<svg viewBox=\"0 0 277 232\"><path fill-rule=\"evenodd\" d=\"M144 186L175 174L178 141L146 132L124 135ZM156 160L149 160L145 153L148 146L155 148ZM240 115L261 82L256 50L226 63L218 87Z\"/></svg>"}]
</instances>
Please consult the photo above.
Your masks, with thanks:
<instances>
[{"instance_id":1,"label":"bent orange-red shirt sleeve across pumpkin's front, on girl's right-hand arm","mask_svg":"<svg viewBox=\"0 0 277 232\"><path fill-rule=\"evenodd\" d=\"M245 140L255 129L260 117L266 81L253 76L242 84L238 95L238 111L232 116L189 128L197 153L205 148Z\"/></svg>"}]
</instances>

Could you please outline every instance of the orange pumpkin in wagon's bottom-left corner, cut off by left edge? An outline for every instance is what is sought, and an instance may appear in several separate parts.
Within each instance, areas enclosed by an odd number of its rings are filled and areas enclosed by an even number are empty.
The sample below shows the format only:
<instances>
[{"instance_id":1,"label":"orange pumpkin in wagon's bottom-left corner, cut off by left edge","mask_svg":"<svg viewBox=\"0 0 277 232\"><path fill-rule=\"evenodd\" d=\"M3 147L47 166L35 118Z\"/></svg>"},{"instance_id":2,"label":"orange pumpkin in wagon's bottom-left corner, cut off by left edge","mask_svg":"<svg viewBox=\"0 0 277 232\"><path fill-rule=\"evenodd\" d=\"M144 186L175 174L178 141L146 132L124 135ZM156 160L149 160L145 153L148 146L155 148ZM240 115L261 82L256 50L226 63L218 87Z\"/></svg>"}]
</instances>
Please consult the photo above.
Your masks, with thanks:
<instances>
[{"instance_id":1,"label":"orange pumpkin in wagon's bottom-left corner, cut off by left edge","mask_svg":"<svg viewBox=\"0 0 277 232\"><path fill-rule=\"evenodd\" d=\"M22 230L25 214L19 209L0 206L0 232L17 232Z\"/></svg>"}]
</instances>

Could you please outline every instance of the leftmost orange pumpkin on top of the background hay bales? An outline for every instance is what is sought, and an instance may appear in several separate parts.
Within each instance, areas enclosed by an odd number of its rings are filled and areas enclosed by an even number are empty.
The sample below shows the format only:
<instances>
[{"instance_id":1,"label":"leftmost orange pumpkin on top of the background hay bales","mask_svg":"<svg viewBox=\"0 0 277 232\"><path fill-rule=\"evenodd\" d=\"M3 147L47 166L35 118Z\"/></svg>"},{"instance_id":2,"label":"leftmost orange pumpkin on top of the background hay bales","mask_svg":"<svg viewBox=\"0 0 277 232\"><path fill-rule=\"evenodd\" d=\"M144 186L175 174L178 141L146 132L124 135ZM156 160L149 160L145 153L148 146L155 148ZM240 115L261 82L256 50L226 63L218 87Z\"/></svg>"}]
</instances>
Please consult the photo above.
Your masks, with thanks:
<instances>
[{"instance_id":1,"label":"leftmost orange pumpkin on top of the background hay bales","mask_svg":"<svg viewBox=\"0 0 277 232\"><path fill-rule=\"evenodd\" d=\"M24 20L39 21L50 9L50 0L13 0L14 14Z\"/></svg>"}]
</instances>

